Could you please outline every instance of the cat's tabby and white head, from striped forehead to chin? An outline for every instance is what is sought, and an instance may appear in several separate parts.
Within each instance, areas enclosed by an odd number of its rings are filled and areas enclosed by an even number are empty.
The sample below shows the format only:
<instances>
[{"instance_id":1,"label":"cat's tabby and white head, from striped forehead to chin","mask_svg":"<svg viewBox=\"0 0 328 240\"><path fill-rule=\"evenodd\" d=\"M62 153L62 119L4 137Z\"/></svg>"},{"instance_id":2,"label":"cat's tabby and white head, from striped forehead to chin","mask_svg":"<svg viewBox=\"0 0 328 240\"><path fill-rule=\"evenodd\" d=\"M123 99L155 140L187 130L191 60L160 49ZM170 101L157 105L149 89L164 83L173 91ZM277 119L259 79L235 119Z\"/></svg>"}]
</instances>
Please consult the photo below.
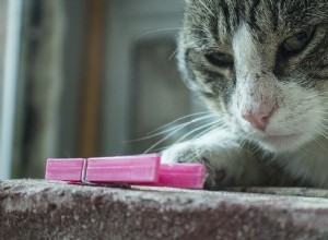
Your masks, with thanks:
<instances>
[{"instance_id":1,"label":"cat's tabby and white head, from striped forehead to chin","mask_svg":"<svg viewBox=\"0 0 328 240\"><path fill-rule=\"evenodd\" d=\"M188 0L178 61L212 109L269 151L328 135L327 0Z\"/></svg>"}]
</instances>

